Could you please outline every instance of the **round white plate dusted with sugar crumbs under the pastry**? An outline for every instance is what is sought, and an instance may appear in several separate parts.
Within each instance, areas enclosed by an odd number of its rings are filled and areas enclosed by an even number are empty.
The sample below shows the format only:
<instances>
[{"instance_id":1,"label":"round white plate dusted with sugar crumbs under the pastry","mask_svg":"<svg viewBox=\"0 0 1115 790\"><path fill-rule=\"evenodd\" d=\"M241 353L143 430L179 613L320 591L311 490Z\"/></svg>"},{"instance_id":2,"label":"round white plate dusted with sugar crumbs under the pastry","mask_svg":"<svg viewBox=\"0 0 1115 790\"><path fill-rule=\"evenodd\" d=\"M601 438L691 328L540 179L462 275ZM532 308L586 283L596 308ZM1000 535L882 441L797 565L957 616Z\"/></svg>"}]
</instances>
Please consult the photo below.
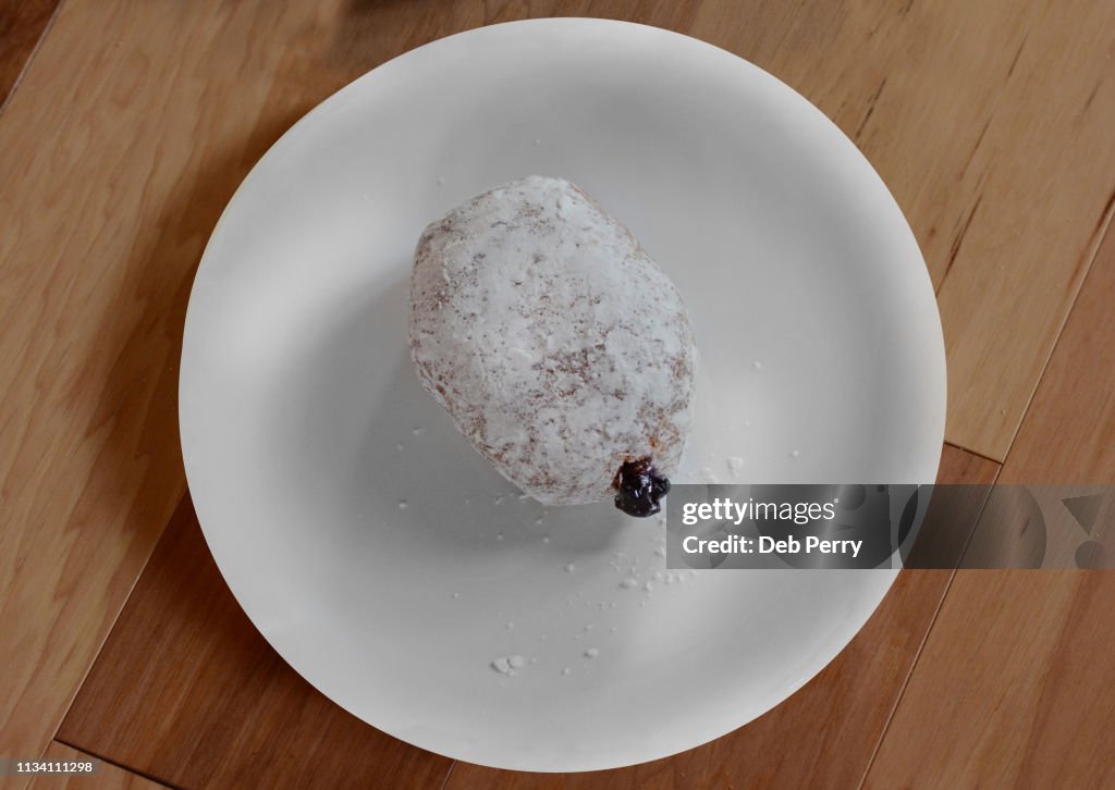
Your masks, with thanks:
<instances>
[{"instance_id":1,"label":"round white plate dusted with sugar crumbs under the pastry","mask_svg":"<svg viewBox=\"0 0 1115 790\"><path fill-rule=\"evenodd\" d=\"M760 69L662 30L454 36L358 79L256 165L205 251L182 354L183 455L221 572L370 724L487 765L600 769L778 704L894 572L656 582L661 524L544 510L472 450L411 370L410 254L453 205L532 173L595 196L689 305L702 378L680 480L737 456L752 482L932 481L943 344L917 243L852 143ZM491 665L516 654L514 676Z\"/></svg>"}]
</instances>

